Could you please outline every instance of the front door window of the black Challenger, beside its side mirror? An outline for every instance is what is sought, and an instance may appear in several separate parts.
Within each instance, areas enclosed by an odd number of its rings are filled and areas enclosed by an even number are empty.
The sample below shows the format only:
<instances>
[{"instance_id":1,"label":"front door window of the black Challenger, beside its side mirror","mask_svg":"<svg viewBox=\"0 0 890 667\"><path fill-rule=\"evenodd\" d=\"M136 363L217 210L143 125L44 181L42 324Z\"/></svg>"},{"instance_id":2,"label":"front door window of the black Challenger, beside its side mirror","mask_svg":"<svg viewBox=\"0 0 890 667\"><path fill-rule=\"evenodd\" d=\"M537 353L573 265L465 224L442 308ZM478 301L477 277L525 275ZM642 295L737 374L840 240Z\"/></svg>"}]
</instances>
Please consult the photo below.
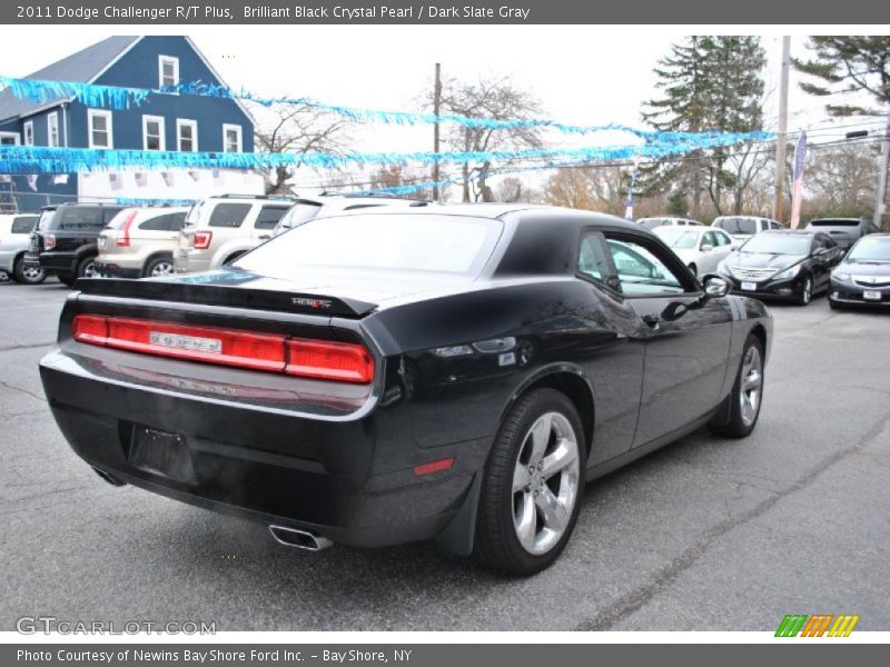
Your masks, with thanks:
<instances>
[{"instance_id":1,"label":"front door window of the black Challenger, beside its side mirror","mask_svg":"<svg viewBox=\"0 0 890 667\"><path fill-rule=\"evenodd\" d=\"M682 293L683 281L670 268L661 248L627 237L606 237L621 291L629 297ZM690 287L692 289L692 287Z\"/></svg>"}]
</instances>

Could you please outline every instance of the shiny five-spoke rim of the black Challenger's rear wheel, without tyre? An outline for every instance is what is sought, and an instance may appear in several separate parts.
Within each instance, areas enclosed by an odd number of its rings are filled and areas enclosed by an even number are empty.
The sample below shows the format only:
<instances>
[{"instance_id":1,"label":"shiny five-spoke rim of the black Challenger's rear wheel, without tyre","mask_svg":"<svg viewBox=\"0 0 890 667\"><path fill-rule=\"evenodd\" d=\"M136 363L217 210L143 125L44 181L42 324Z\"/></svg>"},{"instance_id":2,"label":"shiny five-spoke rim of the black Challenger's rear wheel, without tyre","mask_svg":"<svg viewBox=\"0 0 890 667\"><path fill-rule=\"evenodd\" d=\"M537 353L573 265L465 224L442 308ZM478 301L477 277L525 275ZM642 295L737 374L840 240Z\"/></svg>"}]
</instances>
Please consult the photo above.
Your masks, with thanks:
<instances>
[{"instance_id":1,"label":"shiny five-spoke rim of the black Challenger's rear wheel, without tyre","mask_svg":"<svg viewBox=\"0 0 890 667\"><path fill-rule=\"evenodd\" d=\"M578 445L560 412L528 429L513 472L513 527L530 554L546 554L565 532L578 490Z\"/></svg>"}]
</instances>

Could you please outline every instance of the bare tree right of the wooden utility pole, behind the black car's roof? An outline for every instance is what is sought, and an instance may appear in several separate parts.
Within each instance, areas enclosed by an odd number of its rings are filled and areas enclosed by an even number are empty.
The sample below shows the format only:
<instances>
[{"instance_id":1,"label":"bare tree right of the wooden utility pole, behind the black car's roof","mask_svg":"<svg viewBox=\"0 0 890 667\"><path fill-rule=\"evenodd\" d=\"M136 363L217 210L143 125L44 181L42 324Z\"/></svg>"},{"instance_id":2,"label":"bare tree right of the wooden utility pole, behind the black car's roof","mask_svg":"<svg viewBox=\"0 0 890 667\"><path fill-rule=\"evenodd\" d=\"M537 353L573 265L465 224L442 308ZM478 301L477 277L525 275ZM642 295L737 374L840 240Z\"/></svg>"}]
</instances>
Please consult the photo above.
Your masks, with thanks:
<instances>
[{"instance_id":1,"label":"bare tree right of the wooden utility pole, behind the black car's roof","mask_svg":"<svg viewBox=\"0 0 890 667\"><path fill-rule=\"evenodd\" d=\"M526 120L540 116L541 103L528 91L516 88L508 78L482 78L473 83L454 79L443 83L442 112L492 120ZM521 150L542 146L538 128L464 127L454 125L445 139L452 150L483 152ZM501 161L503 167L511 160ZM495 165L492 160L465 162L462 169L464 201L494 201L495 193L487 183Z\"/></svg>"}]
</instances>

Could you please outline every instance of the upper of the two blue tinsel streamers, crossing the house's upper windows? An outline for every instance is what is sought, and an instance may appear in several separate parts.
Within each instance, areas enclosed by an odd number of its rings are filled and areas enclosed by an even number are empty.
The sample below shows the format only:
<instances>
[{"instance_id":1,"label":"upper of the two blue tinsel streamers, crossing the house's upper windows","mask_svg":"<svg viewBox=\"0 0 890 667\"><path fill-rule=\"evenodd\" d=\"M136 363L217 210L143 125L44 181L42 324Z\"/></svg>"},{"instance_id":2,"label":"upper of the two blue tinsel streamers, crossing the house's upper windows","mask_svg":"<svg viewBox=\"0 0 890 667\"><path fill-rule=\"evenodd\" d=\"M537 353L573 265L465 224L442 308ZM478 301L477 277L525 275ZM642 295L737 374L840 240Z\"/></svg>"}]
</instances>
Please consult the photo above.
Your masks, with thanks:
<instances>
[{"instance_id":1,"label":"upper of the two blue tinsel streamers, crossing the house's upper windows","mask_svg":"<svg viewBox=\"0 0 890 667\"><path fill-rule=\"evenodd\" d=\"M260 97L244 89L236 90L226 86L202 83L201 81L182 81L177 86L165 86L160 89L147 89L120 88L117 86L99 86L96 83L78 83L72 81L43 81L38 79L0 77L0 88L9 88L10 92L17 98L31 100L32 102L37 103L46 103L51 100L73 98L88 107L101 107L117 110L138 107L151 94L195 94L200 97L246 100L264 107L270 107L273 104L307 106L336 113L353 122L382 122L386 125L398 126L432 125L442 122L455 123L467 128L484 129L543 128L553 129L567 135L591 135L617 131L633 135L645 141L663 140L668 137L673 137L674 140L682 140L684 138L695 136L688 132L654 132L616 123L577 126L541 118L496 120L493 118L472 118L456 113L444 113L436 116L435 113L425 112L358 109L355 107L344 107L339 104L318 102L306 97ZM719 133L720 132L705 132L705 135Z\"/></svg>"}]
</instances>

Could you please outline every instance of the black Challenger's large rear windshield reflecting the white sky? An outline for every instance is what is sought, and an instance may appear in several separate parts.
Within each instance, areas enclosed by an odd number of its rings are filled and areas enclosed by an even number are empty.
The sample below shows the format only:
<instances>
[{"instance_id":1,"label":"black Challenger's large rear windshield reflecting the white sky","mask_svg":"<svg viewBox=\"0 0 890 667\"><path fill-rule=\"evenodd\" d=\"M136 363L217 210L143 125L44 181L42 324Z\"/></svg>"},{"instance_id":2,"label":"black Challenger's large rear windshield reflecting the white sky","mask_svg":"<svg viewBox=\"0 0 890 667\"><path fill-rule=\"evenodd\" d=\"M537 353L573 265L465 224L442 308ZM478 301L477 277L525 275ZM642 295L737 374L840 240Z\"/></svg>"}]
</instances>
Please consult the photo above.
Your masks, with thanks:
<instances>
[{"instance_id":1,"label":"black Challenger's large rear windshield reflecting the white sky","mask_svg":"<svg viewBox=\"0 0 890 667\"><path fill-rule=\"evenodd\" d=\"M468 217L320 218L275 237L236 266L279 278L306 267L474 275L491 257L501 230L500 220Z\"/></svg>"}]
</instances>

